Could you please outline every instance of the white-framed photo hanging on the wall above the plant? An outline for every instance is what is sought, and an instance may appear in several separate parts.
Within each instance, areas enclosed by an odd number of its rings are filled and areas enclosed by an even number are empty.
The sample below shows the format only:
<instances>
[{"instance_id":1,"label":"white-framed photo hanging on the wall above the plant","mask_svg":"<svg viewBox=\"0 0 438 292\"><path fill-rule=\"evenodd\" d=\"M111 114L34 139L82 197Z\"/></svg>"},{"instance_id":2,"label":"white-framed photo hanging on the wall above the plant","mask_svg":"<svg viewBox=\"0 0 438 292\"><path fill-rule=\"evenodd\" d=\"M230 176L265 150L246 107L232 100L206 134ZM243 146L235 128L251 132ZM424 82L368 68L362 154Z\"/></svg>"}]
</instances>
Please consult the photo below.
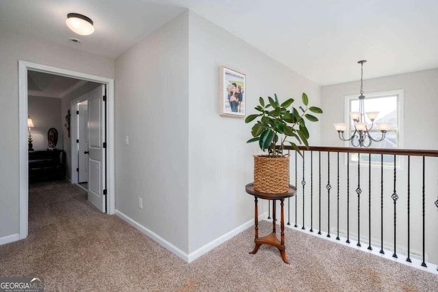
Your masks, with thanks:
<instances>
[{"instance_id":1,"label":"white-framed photo hanging on the wall above the plant","mask_svg":"<svg viewBox=\"0 0 438 292\"><path fill-rule=\"evenodd\" d=\"M221 116L245 116L246 75L220 66L219 114Z\"/></svg>"}]
</instances>

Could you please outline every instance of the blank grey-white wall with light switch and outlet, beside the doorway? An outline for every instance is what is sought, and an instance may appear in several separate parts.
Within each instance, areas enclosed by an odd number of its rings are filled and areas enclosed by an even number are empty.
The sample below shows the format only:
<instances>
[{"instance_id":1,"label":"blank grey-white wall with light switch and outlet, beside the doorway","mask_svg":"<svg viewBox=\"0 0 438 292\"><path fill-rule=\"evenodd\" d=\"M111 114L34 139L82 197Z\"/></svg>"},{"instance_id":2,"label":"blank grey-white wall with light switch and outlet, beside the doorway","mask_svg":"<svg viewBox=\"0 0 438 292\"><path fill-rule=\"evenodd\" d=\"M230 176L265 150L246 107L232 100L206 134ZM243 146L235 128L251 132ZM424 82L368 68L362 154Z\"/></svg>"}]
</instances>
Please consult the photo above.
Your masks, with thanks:
<instances>
[{"instance_id":1,"label":"blank grey-white wall with light switch and outlet, beside the doorway","mask_svg":"<svg viewBox=\"0 0 438 292\"><path fill-rule=\"evenodd\" d=\"M116 209L187 252L187 12L115 64Z\"/></svg>"}]
</instances>

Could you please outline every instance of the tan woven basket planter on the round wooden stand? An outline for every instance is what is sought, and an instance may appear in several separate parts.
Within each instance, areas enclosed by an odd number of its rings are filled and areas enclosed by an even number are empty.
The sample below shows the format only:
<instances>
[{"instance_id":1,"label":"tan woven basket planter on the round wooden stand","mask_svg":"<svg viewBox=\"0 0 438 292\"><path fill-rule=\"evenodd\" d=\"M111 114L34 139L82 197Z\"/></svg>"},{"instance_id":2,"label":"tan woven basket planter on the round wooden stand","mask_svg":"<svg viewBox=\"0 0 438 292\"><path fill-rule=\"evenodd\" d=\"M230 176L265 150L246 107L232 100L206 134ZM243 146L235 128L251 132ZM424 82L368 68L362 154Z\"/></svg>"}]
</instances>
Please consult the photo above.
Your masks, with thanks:
<instances>
[{"instance_id":1,"label":"tan woven basket planter on the round wooden stand","mask_svg":"<svg viewBox=\"0 0 438 292\"><path fill-rule=\"evenodd\" d=\"M254 155L254 189L261 193L283 194L289 190L289 155Z\"/></svg>"}]
</instances>

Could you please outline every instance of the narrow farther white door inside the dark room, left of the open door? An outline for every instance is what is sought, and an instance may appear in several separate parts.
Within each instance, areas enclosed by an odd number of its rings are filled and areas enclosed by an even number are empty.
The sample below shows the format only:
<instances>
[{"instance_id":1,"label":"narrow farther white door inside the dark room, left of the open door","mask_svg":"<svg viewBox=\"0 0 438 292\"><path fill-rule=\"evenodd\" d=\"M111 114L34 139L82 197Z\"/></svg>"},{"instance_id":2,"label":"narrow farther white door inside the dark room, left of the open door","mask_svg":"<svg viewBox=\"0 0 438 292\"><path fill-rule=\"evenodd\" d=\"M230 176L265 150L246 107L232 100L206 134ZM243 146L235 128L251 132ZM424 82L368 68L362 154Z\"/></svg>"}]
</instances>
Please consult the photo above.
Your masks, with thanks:
<instances>
[{"instance_id":1,"label":"narrow farther white door inside the dark room, left of the open door","mask_svg":"<svg viewBox=\"0 0 438 292\"><path fill-rule=\"evenodd\" d=\"M79 168L79 183L88 181L88 101L79 103L79 152L78 152L78 168Z\"/></svg>"}]
</instances>

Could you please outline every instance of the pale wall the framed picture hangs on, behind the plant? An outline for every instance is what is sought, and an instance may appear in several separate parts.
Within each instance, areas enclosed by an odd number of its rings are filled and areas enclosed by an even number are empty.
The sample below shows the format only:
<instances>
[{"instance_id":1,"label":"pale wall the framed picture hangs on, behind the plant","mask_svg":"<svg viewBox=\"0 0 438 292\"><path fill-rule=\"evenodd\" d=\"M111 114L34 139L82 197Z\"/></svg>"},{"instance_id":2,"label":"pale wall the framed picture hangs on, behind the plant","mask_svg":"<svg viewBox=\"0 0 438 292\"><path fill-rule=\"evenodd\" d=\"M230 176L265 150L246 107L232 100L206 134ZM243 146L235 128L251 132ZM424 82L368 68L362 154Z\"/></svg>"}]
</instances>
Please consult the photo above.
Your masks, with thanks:
<instances>
[{"instance_id":1,"label":"pale wall the framed picture hangs on, behind the plant","mask_svg":"<svg viewBox=\"0 0 438 292\"><path fill-rule=\"evenodd\" d=\"M246 144L251 124L244 118L219 116L219 67L246 74L246 112L254 113L259 96L281 101L306 92L320 105L320 86L298 75L246 42L190 12L189 101L189 252L254 219L253 181L256 144ZM314 124L311 144L318 144ZM266 210L267 211L267 210Z\"/></svg>"}]
</instances>

